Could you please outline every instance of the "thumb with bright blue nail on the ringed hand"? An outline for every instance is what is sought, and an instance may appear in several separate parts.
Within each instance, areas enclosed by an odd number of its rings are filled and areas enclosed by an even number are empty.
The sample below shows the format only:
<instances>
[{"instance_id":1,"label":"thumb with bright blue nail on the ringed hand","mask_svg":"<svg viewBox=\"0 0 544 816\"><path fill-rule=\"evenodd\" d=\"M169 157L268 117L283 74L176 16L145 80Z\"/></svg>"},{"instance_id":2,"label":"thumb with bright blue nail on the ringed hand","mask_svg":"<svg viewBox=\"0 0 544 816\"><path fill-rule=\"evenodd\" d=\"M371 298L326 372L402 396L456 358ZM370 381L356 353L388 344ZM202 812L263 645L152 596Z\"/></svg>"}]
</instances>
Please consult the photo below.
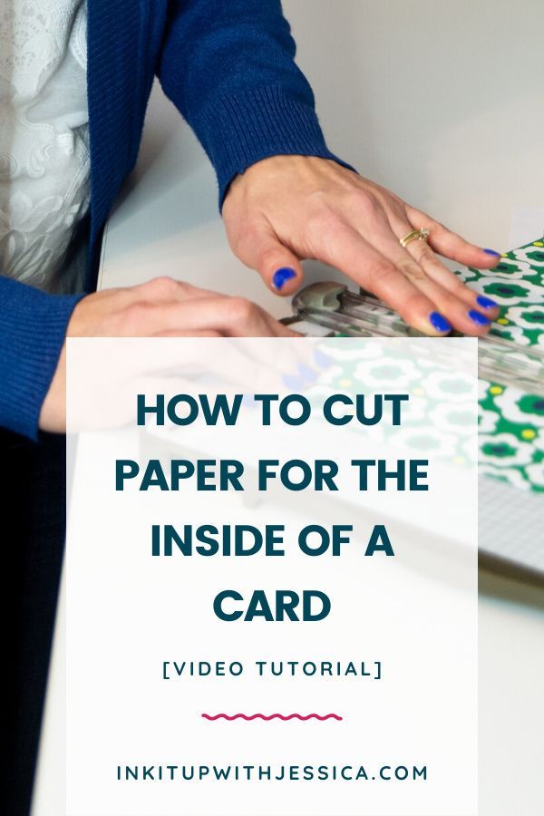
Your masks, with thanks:
<instances>
[{"instance_id":1,"label":"thumb with bright blue nail on the ringed hand","mask_svg":"<svg viewBox=\"0 0 544 816\"><path fill-rule=\"evenodd\" d=\"M277 236L268 230L259 230L251 240L252 263L267 287L277 295L293 295L301 287L304 272L301 263Z\"/></svg>"}]
</instances>

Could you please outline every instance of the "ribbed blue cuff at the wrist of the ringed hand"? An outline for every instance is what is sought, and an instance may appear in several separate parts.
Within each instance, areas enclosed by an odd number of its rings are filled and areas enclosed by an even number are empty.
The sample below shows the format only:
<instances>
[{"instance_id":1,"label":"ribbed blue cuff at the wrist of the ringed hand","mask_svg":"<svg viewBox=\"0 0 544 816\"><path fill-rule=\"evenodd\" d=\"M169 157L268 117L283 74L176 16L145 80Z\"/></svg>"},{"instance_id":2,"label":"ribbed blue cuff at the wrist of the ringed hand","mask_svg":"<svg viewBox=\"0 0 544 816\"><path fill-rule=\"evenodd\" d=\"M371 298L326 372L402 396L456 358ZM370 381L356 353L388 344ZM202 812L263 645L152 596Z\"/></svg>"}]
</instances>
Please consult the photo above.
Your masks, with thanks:
<instances>
[{"instance_id":1,"label":"ribbed blue cuff at the wrist of the ringed hand","mask_svg":"<svg viewBox=\"0 0 544 816\"><path fill-rule=\"evenodd\" d=\"M235 176L270 156L317 156L354 170L327 148L314 108L281 87L220 97L200 114L195 130L218 176L219 208Z\"/></svg>"}]
</instances>

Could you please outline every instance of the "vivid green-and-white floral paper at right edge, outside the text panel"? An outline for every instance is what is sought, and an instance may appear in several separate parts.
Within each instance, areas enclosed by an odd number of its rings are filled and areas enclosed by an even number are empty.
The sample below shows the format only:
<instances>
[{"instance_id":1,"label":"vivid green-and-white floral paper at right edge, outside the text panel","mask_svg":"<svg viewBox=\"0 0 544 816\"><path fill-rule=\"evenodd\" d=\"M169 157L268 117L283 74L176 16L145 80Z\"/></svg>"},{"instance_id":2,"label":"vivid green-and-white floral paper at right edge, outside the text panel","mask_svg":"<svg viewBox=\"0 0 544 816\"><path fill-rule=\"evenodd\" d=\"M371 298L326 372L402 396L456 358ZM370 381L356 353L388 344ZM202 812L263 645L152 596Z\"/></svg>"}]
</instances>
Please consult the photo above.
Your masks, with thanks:
<instances>
[{"instance_id":1,"label":"vivid green-and-white floral paper at right edge, outside the text panel","mask_svg":"<svg viewBox=\"0 0 544 816\"><path fill-rule=\"evenodd\" d=\"M544 238L506 253L489 272L458 274L501 306L492 334L544 351ZM481 380L479 413L481 471L544 492L544 398Z\"/></svg>"}]
</instances>

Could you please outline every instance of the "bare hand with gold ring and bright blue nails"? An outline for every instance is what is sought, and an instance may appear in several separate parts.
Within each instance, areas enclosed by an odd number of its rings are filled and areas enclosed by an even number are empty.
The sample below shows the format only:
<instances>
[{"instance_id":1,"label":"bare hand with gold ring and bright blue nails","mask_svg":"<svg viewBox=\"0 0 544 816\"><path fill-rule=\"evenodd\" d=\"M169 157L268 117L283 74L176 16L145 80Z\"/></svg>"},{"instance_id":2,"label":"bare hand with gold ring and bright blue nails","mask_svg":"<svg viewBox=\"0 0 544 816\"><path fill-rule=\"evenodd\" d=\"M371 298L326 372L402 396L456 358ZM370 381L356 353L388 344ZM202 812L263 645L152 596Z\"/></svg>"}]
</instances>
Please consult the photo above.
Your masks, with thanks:
<instances>
[{"instance_id":1,"label":"bare hand with gold ring and bright blue nails","mask_svg":"<svg viewBox=\"0 0 544 816\"><path fill-rule=\"evenodd\" d=\"M428 335L452 327L482 335L498 306L461 283L438 255L470 267L494 267L500 254L467 243L389 190L335 161L275 156L238 176L223 208L230 246L267 286L291 295L303 279L300 261L338 267ZM399 242L426 228L428 244Z\"/></svg>"}]
</instances>

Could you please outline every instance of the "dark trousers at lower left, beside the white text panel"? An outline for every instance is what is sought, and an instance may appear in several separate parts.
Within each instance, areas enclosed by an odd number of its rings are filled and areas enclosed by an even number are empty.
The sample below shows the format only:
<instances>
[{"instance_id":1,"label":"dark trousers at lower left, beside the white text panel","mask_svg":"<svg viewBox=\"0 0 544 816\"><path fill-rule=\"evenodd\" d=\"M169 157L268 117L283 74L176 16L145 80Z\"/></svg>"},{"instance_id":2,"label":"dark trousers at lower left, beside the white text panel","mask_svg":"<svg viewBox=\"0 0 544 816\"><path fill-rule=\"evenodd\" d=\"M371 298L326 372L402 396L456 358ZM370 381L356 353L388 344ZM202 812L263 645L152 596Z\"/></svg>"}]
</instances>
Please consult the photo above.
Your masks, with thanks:
<instances>
[{"instance_id":1,"label":"dark trousers at lower left, beside the white text panel","mask_svg":"<svg viewBox=\"0 0 544 816\"><path fill-rule=\"evenodd\" d=\"M30 811L65 527L64 436L0 430L2 675L0 812Z\"/></svg>"}]
</instances>

